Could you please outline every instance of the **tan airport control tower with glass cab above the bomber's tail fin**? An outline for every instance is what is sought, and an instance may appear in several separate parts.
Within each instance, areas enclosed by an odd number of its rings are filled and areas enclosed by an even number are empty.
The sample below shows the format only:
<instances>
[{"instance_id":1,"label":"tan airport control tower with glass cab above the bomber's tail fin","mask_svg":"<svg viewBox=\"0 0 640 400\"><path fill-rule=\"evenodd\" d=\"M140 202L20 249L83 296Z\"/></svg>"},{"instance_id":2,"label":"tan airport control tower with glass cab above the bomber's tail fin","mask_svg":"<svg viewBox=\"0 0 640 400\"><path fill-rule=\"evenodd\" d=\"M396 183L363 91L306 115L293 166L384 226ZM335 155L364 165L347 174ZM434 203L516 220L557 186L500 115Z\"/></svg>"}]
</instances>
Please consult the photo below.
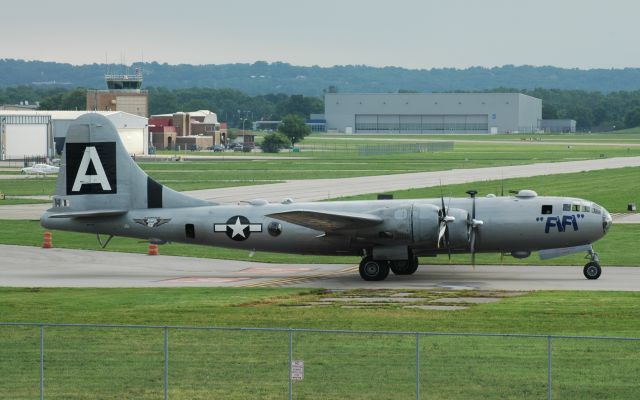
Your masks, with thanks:
<instances>
[{"instance_id":1,"label":"tan airport control tower with glass cab above the bomber's tail fin","mask_svg":"<svg viewBox=\"0 0 640 400\"><path fill-rule=\"evenodd\" d=\"M149 117L149 92L142 87L142 71L106 74L107 90L87 90L88 111L124 111Z\"/></svg>"}]
</instances>

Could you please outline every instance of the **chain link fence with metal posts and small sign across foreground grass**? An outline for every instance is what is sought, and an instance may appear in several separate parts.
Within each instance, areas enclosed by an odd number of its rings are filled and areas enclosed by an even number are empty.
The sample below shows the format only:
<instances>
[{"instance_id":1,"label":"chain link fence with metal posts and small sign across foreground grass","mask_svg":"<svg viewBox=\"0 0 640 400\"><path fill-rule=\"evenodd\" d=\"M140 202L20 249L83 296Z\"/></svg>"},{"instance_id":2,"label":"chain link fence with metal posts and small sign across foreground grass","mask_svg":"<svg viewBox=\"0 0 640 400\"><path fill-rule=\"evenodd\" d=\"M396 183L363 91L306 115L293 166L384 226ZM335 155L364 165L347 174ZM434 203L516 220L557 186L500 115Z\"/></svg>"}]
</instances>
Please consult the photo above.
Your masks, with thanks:
<instances>
[{"instance_id":1,"label":"chain link fence with metal posts and small sign across foreground grass","mask_svg":"<svg viewBox=\"0 0 640 400\"><path fill-rule=\"evenodd\" d=\"M0 323L6 399L640 397L640 338Z\"/></svg>"}]
</instances>

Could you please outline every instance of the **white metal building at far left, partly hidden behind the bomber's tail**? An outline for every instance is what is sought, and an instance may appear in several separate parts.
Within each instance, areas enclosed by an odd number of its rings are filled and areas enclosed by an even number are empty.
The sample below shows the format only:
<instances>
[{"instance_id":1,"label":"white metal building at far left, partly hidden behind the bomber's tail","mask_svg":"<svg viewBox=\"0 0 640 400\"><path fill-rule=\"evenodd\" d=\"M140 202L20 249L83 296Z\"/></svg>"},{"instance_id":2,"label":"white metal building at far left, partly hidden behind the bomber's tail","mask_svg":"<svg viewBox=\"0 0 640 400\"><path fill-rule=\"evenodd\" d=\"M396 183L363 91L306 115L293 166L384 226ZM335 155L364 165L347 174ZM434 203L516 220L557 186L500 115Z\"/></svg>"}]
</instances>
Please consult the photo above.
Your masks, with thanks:
<instances>
[{"instance_id":1,"label":"white metal building at far left, partly hidden behind the bomber's tail","mask_svg":"<svg viewBox=\"0 0 640 400\"><path fill-rule=\"evenodd\" d=\"M3 160L55 157L64 146L71 123L88 111L0 110L0 145ZM120 133L132 155L148 154L148 119L122 111L99 111Z\"/></svg>"}]
</instances>

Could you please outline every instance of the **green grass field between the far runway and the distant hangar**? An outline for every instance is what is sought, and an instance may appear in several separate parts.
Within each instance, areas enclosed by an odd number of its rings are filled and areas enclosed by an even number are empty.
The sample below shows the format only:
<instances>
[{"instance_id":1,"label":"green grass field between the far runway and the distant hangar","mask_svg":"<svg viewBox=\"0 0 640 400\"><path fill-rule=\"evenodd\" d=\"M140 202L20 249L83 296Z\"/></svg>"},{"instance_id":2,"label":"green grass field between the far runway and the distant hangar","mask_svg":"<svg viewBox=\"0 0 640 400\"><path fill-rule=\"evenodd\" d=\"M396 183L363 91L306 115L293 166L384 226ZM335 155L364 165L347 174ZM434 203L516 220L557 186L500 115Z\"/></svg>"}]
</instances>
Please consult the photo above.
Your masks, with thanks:
<instances>
[{"instance_id":1,"label":"green grass field between the far runway and the distant hangar","mask_svg":"<svg viewBox=\"0 0 640 400\"><path fill-rule=\"evenodd\" d=\"M629 136L635 137L624 135ZM451 151L405 154L391 152L386 155L359 153L363 145L393 146L393 142L381 140L384 138L358 137L354 141L312 136L301 145L301 153L280 153L281 156L297 157L295 159L239 161L220 155L214 161L142 162L140 166L159 182L182 191L264 184L288 179L345 178L640 155L640 146L625 146L625 143L635 143L631 139L619 146L538 145L535 142L523 145L519 142L494 143L487 139L486 143L456 142ZM207 154L217 156L220 153ZM234 157L236 154L244 153L234 153ZM0 192L10 196L52 194L54 187L53 177L0 180Z\"/></svg>"}]
</instances>

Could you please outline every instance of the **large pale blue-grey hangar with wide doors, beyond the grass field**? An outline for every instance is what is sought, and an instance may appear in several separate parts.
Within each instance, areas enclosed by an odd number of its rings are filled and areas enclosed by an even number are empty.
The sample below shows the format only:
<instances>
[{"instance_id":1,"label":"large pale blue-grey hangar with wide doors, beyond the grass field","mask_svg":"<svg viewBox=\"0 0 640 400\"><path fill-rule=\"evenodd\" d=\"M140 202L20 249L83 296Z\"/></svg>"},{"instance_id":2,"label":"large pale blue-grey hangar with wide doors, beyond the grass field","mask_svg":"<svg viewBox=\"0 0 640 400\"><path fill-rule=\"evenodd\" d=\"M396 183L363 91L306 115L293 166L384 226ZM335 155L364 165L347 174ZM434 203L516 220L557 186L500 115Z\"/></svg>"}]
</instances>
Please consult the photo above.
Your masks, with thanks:
<instances>
[{"instance_id":1,"label":"large pale blue-grey hangar with wide doors, beyond the grass field","mask_svg":"<svg viewBox=\"0 0 640 400\"><path fill-rule=\"evenodd\" d=\"M520 93L327 93L328 132L532 133L542 100Z\"/></svg>"}]
</instances>

